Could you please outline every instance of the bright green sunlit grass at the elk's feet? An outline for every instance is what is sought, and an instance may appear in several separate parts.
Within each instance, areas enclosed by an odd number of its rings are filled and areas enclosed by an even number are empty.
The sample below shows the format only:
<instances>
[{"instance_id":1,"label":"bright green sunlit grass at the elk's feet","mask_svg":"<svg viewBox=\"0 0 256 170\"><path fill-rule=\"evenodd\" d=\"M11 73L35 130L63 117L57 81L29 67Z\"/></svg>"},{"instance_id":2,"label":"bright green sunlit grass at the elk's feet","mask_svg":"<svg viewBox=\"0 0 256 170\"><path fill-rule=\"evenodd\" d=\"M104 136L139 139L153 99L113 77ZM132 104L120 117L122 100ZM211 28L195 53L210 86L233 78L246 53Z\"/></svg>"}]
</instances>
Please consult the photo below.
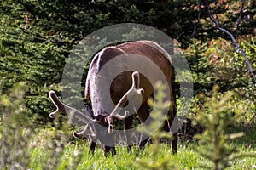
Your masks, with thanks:
<instances>
[{"instance_id":1,"label":"bright green sunlit grass at the elk's feet","mask_svg":"<svg viewBox=\"0 0 256 170\"><path fill-rule=\"evenodd\" d=\"M32 159L30 162L30 169L142 169L138 166L138 161L152 161L152 145L148 145L144 151L137 150L137 146L132 148L131 153L125 147L117 147L116 156L103 156L102 148L97 145L96 152L92 156L88 154L89 142L77 141L75 143L63 144L63 150L49 146L50 142L45 136L47 130L42 134L38 134L44 139L36 147L32 149ZM52 131L52 130L49 130ZM50 132L48 132L50 133ZM50 138L49 138L50 139ZM58 145L58 144L56 144ZM255 144L241 144L241 141L229 144L230 147L239 148L242 154L255 154ZM168 144L161 144L159 148L159 155L157 162L164 159L170 160L170 164L174 165L177 169L201 169L201 165L212 165L210 161L202 158L198 153L193 150L196 147L201 150L202 146L199 144L178 144L178 153L173 156L171 147ZM61 152L61 155L55 152ZM236 153L237 154L237 153ZM252 169L256 165L255 157L242 157L232 161L230 169Z\"/></svg>"}]
</instances>

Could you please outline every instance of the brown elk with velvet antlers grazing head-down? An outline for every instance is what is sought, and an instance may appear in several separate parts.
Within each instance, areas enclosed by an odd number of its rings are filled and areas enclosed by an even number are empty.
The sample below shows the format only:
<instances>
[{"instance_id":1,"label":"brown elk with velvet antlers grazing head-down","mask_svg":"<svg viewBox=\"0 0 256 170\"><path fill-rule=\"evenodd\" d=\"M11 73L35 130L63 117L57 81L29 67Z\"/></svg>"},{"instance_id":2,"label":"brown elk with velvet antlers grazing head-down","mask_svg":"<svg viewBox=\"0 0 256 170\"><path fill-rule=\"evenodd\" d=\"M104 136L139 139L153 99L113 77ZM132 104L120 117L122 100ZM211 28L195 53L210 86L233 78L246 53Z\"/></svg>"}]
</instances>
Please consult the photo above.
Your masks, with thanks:
<instances>
[{"instance_id":1,"label":"brown elk with velvet antlers grazing head-down","mask_svg":"<svg viewBox=\"0 0 256 170\"><path fill-rule=\"evenodd\" d=\"M104 65L107 65L112 59L115 60L114 65L111 67L108 66L107 69L104 70ZM149 63L143 63L147 59ZM134 63L136 61L138 61L137 64ZM160 71L154 69L155 65L160 68ZM114 75L112 72L119 68L126 68L126 70L118 75ZM153 81L148 80L148 77L142 74L143 70L147 71L148 75L153 75ZM61 100L57 98L55 92L50 91L49 97L57 107L57 110L50 113L49 116L55 117L61 112L67 112L84 120L86 124L84 130L80 133L73 132L73 136L81 138L89 135L91 139L90 152L94 152L96 141L93 139L96 138L100 143L104 139L110 139L110 142L113 141L114 119L123 120L125 130L131 129L132 127L133 117L130 115L131 112L137 114L141 123L148 119L148 116L150 116L148 99L154 96L153 85L154 82L159 80L158 75L160 74L164 75L166 78L168 86L166 94L170 95L171 102L166 116L166 122L164 123L164 129L171 131L172 123L177 123L177 119L175 119L176 99L172 85L172 82L175 80L174 67L166 51L156 42L152 41L125 42L117 46L103 48L92 59L86 78L85 98L90 101L90 105L85 105L88 114L86 115L81 111L63 104ZM106 87L110 94L110 99L106 98L107 94L103 89L105 88L104 79L108 82L109 77L114 77L109 85L110 89L108 89L108 86ZM133 101L135 102L133 102L133 104L137 105L138 96L141 97L141 100L137 111L132 111L132 109L123 111L125 105L130 105L130 99L134 98ZM111 110L106 109L106 105L108 107L109 104L108 100L111 100L115 105L114 107L109 106ZM135 107L132 108L135 110ZM125 112L125 114L122 115L120 112ZM96 128L98 125L107 128L106 130L98 130L98 128ZM172 132L172 136L172 153L176 153L177 132ZM129 139L130 137L128 136L127 138ZM139 148L144 148L147 142L148 138L141 138ZM114 146L111 144L102 144L102 149L105 154L108 152L112 154L116 153Z\"/></svg>"}]
</instances>

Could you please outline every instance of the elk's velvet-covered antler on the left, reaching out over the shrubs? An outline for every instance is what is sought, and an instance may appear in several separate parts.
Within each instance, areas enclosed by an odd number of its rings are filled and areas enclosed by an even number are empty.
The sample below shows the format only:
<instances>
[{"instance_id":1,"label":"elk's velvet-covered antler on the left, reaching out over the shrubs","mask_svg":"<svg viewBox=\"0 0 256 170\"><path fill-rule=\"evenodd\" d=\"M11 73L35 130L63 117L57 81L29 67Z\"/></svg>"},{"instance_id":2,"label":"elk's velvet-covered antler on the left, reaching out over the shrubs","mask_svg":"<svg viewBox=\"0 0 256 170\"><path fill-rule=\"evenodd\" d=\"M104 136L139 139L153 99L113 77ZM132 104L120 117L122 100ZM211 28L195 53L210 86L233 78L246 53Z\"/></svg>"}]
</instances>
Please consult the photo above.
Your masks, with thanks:
<instances>
[{"instance_id":1,"label":"elk's velvet-covered antler on the left, reaching out over the shrubs","mask_svg":"<svg viewBox=\"0 0 256 170\"><path fill-rule=\"evenodd\" d=\"M90 117L84 115L84 113L82 113L81 111L78 111L78 110L74 109L73 107L70 107L70 106L62 103L61 100L58 99L58 97L56 96L55 91L53 91L53 90L49 91L49 98L51 99L51 101L57 108L56 111L49 114L49 117L55 118L60 113L71 114L72 116L79 118L81 121L83 121L87 124L81 133L73 132L74 137L85 136L89 132L91 133L90 136L92 138L94 138L94 136L96 136L96 131L92 124L92 122L96 122L96 120L90 119ZM90 131L88 128L90 129Z\"/></svg>"}]
</instances>

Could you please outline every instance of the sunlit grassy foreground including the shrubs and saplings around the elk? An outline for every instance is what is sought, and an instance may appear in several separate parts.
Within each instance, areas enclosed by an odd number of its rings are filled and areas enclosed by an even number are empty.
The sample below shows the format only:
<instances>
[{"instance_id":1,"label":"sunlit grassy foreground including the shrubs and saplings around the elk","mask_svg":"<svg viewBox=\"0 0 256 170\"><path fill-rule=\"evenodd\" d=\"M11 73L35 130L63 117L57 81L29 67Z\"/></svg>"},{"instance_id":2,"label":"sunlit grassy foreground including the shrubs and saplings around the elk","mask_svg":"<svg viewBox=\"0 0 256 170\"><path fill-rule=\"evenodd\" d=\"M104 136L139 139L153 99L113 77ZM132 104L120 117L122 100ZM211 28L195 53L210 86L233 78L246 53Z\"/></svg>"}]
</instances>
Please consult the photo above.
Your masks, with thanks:
<instances>
[{"instance_id":1,"label":"sunlit grassy foreground including the shrubs and saplings around the elk","mask_svg":"<svg viewBox=\"0 0 256 170\"><path fill-rule=\"evenodd\" d=\"M115 156L105 157L97 144L94 155L88 153L90 142L73 139L73 127L55 120L48 125L37 125L26 114L22 105L24 91L14 88L13 94L0 99L0 169L255 169L256 127L231 126L234 118L229 113L227 99L213 92L198 111L197 121L206 127L193 140L180 139L177 155L172 155L169 144L160 143L163 133L157 130L152 143L145 150L133 146L117 146ZM159 93L161 94L161 93ZM158 107L164 107L161 96L155 96ZM211 111L211 113L205 113ZM155 114L161 111L155 111ZM154 116L161 116L156 114ZM230 116L230 117L229 117ZM233 122L234 123L234 122ZM242 135L239 132L243 132ZM166 136L165 136L166 137ZM200 138L199 138L200 137ZM216 168L217 167L217 168Z\"/></svg>"}]
</instances>

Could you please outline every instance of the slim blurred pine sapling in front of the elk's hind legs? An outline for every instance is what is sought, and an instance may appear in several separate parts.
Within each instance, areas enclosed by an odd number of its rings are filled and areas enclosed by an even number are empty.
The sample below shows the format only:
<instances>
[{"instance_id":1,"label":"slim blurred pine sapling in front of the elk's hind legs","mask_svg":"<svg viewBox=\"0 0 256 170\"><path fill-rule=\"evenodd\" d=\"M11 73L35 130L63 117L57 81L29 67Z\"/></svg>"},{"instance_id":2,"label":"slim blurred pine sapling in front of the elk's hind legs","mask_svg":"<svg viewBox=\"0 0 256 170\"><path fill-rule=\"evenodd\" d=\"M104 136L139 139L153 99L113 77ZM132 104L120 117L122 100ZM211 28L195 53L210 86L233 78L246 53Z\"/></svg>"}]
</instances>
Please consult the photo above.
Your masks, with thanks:
<instances>
[{"instance_id":1,"label":"slim blurred pine sapling in front of the elk's hind legs","mask_svg":"<svg viewBox=\"0 0 256 170\"><path fill-rule=\"evenodd\" d=\"M164 101L166 97L166 86L164 84L161 82L156 82L154 87L157 89L154 99L148 100L148 105L154 108L150 113L153 121L149 126L137 129L138 131L147 133L148 135L151 134L152 144L148 146L150 148L150 161L148 161L148 159L137 159L137 161L135 161L135 165L143 169L152 170L177 169L176 166L170 162L172 157L165 156L163 159L160 159L162 154L160 151L160 139L172 139L171 133L162 132L161 128L159 127L159 125L162 124L166 119L164 111L167 111L170 107L170 101ZM152 134L152 132L154 133Z\"/></svg>"}]
</instances>

